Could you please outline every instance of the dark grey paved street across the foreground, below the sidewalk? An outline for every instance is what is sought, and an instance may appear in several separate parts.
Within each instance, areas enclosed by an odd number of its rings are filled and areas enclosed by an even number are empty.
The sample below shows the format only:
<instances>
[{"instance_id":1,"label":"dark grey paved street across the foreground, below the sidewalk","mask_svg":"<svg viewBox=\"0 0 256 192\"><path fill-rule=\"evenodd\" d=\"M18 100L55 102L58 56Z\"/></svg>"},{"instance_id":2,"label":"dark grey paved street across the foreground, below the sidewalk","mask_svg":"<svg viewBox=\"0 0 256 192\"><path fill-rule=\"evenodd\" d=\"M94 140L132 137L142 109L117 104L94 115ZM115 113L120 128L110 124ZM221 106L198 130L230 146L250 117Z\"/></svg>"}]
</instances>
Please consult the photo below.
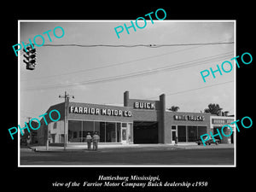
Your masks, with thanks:
<instances>
[{"instance_id":1,"label":"dark grey paved street across the foreground, below the sidewalk","mask_svg":"<svg viewBox=\"0 0 256 192\"><path fill-rule=\"evenodd\" d=\"M220 146L220 147L219 147ZM100 148L88 151L83 148L58 148L34 152L20 148L20 165L70 166L177 166L177 165L233 165L234 148L218 146L144 146L130 148Z\"/></svg>"}]
</instances>

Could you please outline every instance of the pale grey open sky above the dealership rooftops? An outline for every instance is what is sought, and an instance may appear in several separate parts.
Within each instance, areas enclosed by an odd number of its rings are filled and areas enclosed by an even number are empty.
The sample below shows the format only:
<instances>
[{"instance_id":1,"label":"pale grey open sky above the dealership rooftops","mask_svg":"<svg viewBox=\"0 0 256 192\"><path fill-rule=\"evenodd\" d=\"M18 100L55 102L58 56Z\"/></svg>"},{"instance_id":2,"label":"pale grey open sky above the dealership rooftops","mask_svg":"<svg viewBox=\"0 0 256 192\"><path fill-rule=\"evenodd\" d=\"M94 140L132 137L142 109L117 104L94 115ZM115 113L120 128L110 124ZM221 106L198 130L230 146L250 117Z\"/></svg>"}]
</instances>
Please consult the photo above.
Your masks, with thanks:
<instances>
[{"instance_id":1,"label":"pale grey open sky above the dealership rooftops","mask_svg":"<svg viewBox=\"0 0 256 192\"><path fill-rule=\"evenodd\" d=\"M134 21L134 20L133 20ZM51 106L64 102L65 91L71 102L122 105L125 90L133 99L159 100L166 94L166 108L178 106L180 112L201 112L209 103L218 103L224 111L235 113L233 20L147 20L143 29L117 37L114 27L131 25L131 20L20 20L20 43L36 35L44 37L44 45L35 46L37 66L26 70L23 52L19 51L20 124L27 117L37 118ZM139 23L143 26L143 23ZM62 38L55 38L56 26L64 29ZM47 34L49 31L52 42ZM61 36L61 30L55 30ZM41 38L36 38L42 44ZM182 46L79 47L48 46L134 45L134 44L200 44ZM202 45L207 44L207 45ZM201 71L217 69L230 61L233 70L210 75L204 82ZM235 64L236 65L236 64ZM229 69L225 66L226 70ZM224 67L224 68L225 68Z\"/></svg>"}]
</instances>

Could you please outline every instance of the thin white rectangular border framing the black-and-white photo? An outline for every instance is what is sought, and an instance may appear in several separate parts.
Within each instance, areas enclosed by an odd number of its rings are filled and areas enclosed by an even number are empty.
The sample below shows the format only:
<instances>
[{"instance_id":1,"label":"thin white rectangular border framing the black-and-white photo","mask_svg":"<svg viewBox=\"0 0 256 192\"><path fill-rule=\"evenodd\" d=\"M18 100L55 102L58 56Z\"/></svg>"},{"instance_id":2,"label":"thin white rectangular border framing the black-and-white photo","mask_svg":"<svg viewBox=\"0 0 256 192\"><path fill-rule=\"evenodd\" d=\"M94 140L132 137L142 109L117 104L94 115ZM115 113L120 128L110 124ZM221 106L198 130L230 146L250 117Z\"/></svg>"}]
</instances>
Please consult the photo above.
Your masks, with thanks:
<instances>
[{"instance_id":1,"label":"thin white rectangular border framing the black-and-white photo","mask_svg":"<svg viewBox=\"0 0 256 192\"><path fill-rule=\"evenodd\" d=\"M20 43L20 22L130 22L131 20L18 20L18 43ZM154 20L154 22L234 22L234 57L236 56L236 20ZM236 67L234 72L234 119L236 120ZM20 125L20 52L18 53L18 123ZM236 130L236 129L235 129ZM18 131L19 132L19 131ZM132 165L119 165L119 166L98 166L98 165L90 165L90 166L70 166L70 165L61 165L61 166L49 166L49 165L41 165L41 166L28 166L28 165L20 165L20 134L18 133L18 167L236 167L236 131L234 135L234 165L185 165L185 166L168 166L168 165L154 165L154 166L132 166Z\"/></svg>"}]
</instances>

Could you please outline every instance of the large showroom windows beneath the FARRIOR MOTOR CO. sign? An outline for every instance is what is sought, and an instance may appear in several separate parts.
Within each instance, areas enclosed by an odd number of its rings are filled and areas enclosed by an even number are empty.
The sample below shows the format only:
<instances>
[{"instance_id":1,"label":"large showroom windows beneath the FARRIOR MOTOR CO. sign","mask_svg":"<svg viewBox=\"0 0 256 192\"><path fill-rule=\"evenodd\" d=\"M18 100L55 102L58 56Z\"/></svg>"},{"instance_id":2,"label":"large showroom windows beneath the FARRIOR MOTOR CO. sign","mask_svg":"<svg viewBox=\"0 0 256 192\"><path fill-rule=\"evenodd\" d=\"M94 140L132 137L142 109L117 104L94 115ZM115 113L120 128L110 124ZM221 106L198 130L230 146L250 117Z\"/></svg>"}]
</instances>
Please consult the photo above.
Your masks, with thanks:
<instances>
[{"instance_id":1,"label":"large showroom windows beneath the FARRIOR MOTOR CO. sign","mask_svg":"<svg viewBox=\"0 0 256 192\"><path fill-rule=\"evenodd\" d=\"M68 143L85 143L88 132L95 131L100 136L100 143L121 143L121 122L68 120Z\"/></svg>"}]
</instances>

